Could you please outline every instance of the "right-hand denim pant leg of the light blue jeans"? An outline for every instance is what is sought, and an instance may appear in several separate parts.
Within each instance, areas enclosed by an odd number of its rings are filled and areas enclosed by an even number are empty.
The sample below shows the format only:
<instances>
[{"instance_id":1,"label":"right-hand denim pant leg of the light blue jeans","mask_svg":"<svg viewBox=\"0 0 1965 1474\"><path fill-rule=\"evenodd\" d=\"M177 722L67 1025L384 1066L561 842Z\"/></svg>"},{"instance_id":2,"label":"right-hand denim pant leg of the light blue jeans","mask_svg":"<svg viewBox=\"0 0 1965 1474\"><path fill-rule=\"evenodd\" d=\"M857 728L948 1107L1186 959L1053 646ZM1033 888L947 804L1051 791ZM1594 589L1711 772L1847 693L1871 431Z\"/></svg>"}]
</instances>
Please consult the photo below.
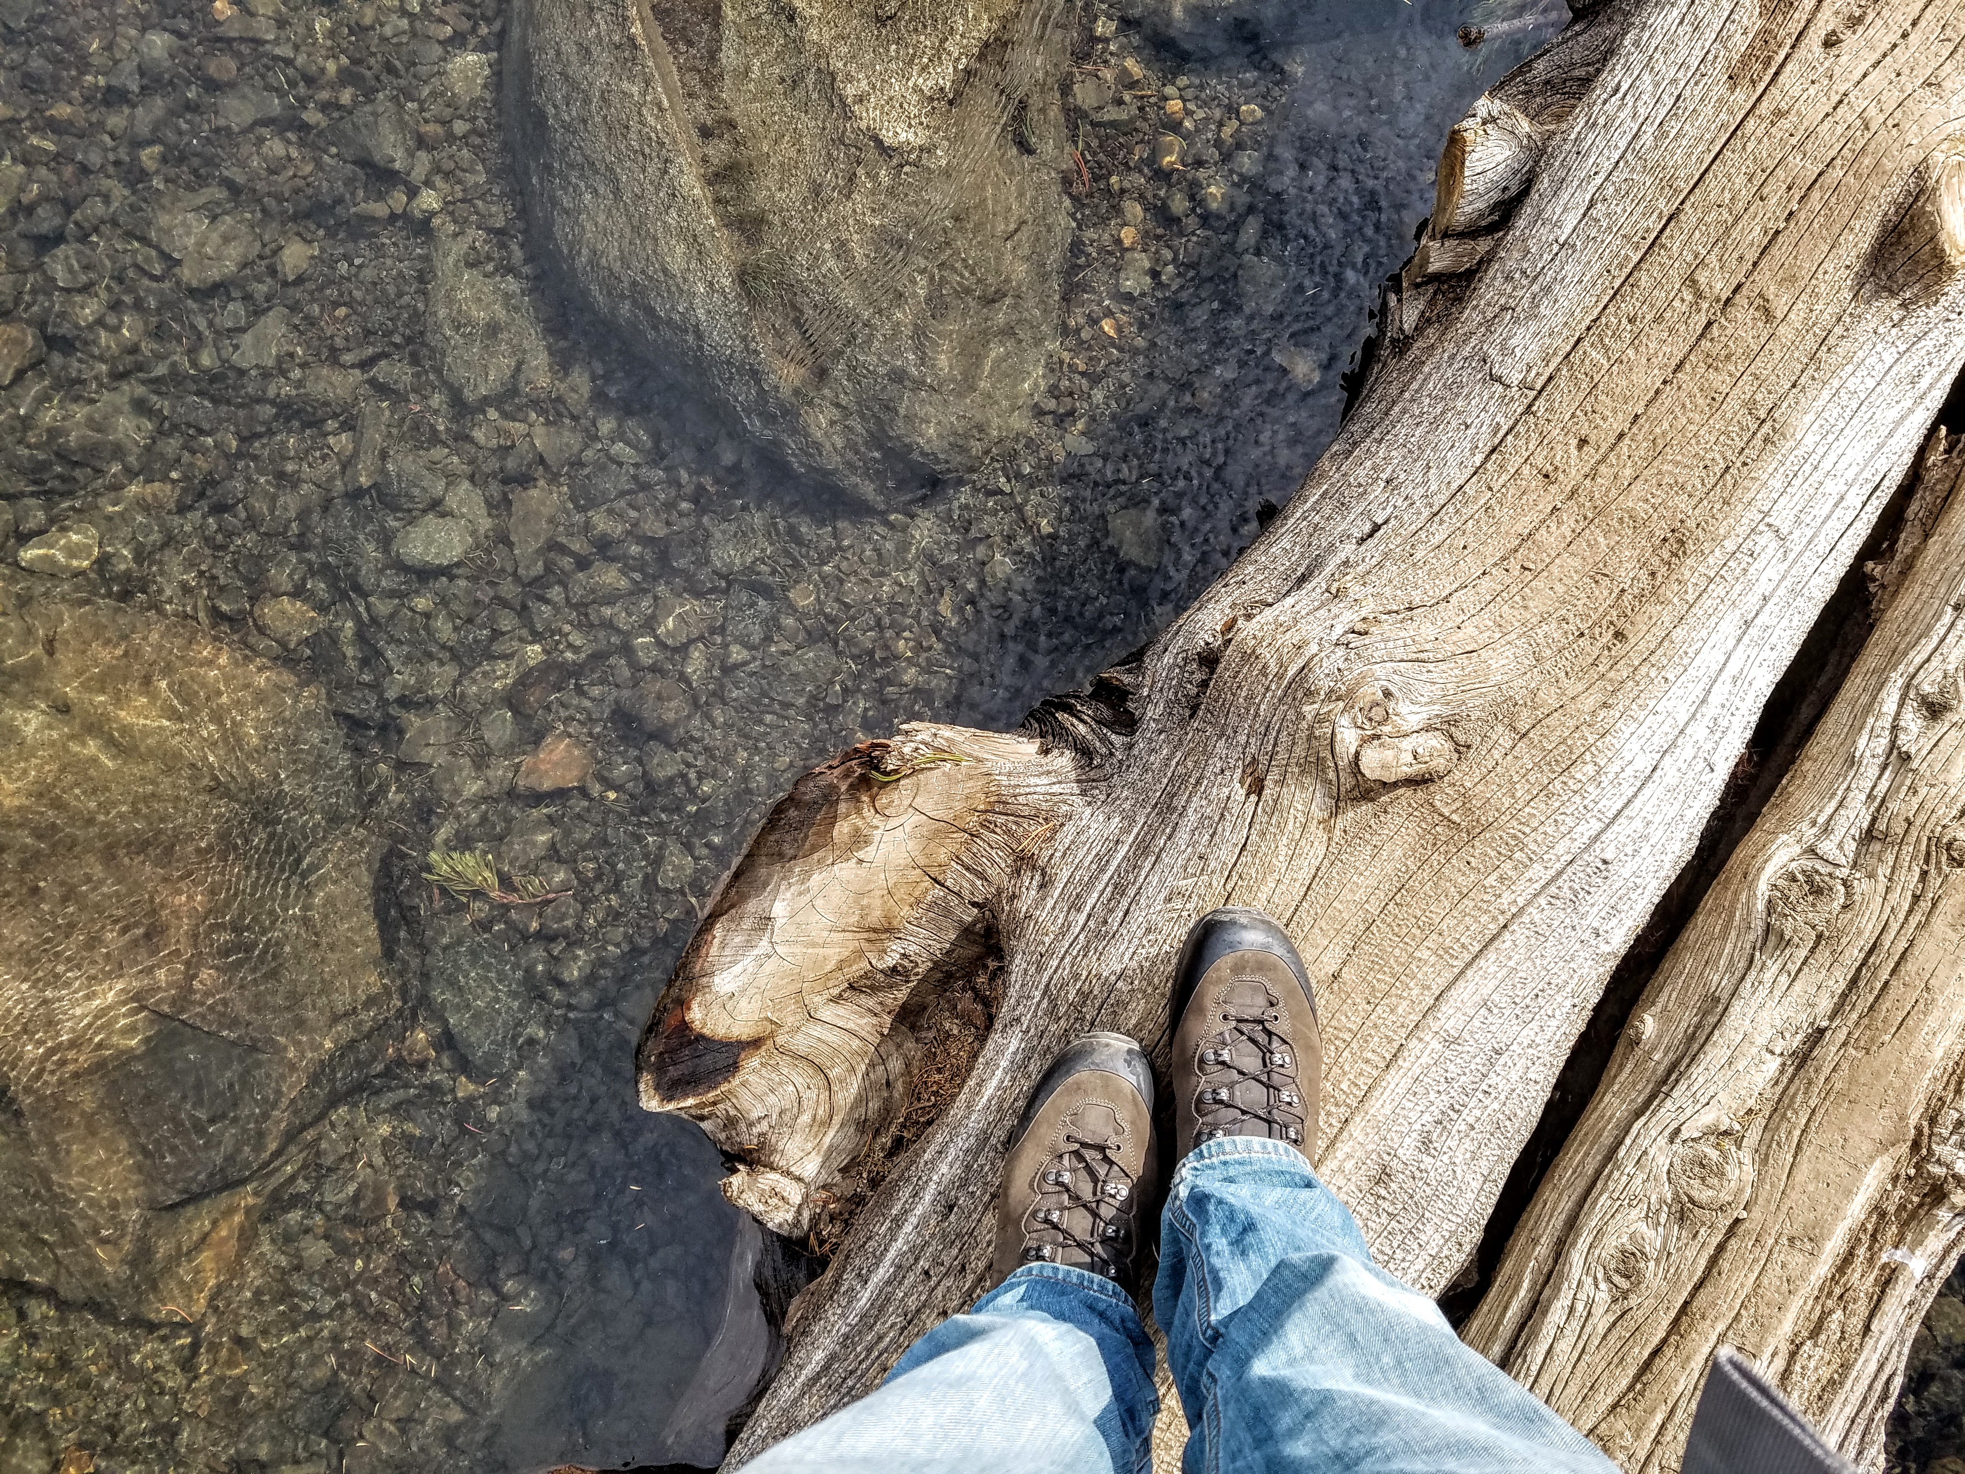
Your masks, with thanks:
<instances>
[{"instance_id":1,"label":"right-hand denim pant leg of the light blue jeans","mask_svg":"<svg viewBox=\"0 0 1965 1474\"><path fill-rule=\"evenodd\" d=\"M1193 1427L1187 1474L1615 1474L1372 1264L1283 1142L1228 1136L1181 1163L1153 1315Z\"/></svg>"}]
</instances>

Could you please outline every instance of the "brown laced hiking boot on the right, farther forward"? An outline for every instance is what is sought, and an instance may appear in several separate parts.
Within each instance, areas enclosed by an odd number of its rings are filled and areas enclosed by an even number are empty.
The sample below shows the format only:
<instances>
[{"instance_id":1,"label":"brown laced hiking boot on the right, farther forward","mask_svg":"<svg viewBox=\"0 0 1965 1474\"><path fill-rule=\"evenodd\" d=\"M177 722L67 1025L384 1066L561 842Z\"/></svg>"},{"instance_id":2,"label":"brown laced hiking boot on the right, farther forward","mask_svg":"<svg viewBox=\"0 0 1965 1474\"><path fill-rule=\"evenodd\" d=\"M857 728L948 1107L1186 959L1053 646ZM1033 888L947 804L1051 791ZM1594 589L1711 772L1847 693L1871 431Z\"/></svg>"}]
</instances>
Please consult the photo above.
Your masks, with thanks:
<instances>
[{"instance_id":1,"label":"brown laced hiking boot on the right, farther forward","mask_svg":"<svg viewBox=\"0 0 1965 1474\"><path fill-rule=\"evenodd\" d=\"M1181 949L1173 1008L1179 1156L1218 1136L1267 1136L1311 1156L1324 1046L1283 928L1240 906L1203 916Z\"/></svg>"}]
</instances>

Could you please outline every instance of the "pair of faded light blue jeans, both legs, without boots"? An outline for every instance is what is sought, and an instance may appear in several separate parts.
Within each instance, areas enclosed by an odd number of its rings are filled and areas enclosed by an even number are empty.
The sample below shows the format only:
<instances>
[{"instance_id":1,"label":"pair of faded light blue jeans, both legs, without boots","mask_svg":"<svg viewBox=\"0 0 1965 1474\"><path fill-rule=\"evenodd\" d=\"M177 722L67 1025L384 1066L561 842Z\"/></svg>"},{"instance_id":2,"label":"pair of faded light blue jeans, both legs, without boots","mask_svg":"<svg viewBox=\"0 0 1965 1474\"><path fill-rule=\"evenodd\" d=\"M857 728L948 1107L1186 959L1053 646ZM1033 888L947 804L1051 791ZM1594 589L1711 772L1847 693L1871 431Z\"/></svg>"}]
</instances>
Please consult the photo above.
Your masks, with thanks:
<instances>
[{"instance_id":1,"label":"pair of faded light blue jeans, both legs, without boots","mask_svg":"<svg viewBox=\"0 0 1965 1474\"><path fill-rule=\"evenodd\" d=\"M1588 1439L1372 1264L1291 1146L1197 1146L1161 1215L1153 1315L1193 1437L1187 1474L1615 1474ZM1034 1264L922 1336L886 1384L749 1474L1150 1468L1153 1342L1132 1299Z\"/></svg>"}]
</instances>

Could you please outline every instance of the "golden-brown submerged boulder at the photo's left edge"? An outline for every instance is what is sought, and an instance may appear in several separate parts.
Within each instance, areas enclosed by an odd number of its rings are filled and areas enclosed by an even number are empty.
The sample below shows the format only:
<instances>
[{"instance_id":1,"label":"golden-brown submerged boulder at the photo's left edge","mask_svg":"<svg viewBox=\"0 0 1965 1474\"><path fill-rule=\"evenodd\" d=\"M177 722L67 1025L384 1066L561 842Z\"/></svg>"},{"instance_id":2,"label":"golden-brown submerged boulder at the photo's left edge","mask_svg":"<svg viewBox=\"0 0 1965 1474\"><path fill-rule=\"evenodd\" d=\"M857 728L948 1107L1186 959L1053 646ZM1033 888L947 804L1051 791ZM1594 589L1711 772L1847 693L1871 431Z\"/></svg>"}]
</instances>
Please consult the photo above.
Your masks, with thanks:
<instances>
[{"instance_id":1,"label":"golden-brown submerged boulder at the photo's left edge","mask_svg":"<svg viewBox=\"0 0 1965 1474\"><path fill-rule=\"evenodd\" d=\"M0 584L0 1277L196 1317L395 991L326 702Z\"/></svg>"}]
</instances>

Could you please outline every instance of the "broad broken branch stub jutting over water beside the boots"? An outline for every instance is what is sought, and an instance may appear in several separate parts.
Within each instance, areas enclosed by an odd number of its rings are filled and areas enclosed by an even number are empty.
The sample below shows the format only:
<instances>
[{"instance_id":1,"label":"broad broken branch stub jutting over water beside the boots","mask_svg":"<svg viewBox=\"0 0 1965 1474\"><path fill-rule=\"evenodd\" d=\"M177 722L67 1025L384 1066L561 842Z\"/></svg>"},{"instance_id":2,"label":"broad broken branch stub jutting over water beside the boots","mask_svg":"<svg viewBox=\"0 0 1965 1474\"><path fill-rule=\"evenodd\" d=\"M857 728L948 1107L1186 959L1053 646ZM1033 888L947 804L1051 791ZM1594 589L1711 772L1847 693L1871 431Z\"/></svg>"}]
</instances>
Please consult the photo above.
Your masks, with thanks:
<instances>
[{"instance_id":1,"label":"broad broken branch stub jutting over water beside the boots","mask_svg":"<svg viewBox=\"0 0 1965 1474\"><path fill-rule=\"evenodd\" d=\"M743 1165L729 1199L802 1238L892 1124L922 987L975 967L982 908L1077 792L1028 737L908 725L806 774L690 941L641 1044L641 1099Z\"/></svg>"}]
</instances>

